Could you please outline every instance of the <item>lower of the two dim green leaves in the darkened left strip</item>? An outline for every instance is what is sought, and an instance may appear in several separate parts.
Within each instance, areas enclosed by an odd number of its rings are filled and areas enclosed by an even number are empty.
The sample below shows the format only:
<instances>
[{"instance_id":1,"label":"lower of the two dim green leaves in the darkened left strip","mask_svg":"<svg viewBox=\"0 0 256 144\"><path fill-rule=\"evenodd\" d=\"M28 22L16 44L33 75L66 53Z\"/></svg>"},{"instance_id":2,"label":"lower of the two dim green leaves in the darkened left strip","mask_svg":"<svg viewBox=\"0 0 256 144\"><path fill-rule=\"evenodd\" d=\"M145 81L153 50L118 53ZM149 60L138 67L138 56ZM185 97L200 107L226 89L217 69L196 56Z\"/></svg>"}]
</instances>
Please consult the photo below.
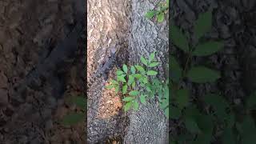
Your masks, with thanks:
<instances>
[{"instance_id":1,"label":"lower of the two dim green leaves in the darkened left strip","mask_svg":"<svg viewBox=\"0 0 256 144\"><path fill-rule=\"evenodd\" d=\"M70 113L62 118L62 125L64 126L72 126L78 124L79 122L83 122L85 120L85 114L82 113Z\"/></svg>"}]
</instances>

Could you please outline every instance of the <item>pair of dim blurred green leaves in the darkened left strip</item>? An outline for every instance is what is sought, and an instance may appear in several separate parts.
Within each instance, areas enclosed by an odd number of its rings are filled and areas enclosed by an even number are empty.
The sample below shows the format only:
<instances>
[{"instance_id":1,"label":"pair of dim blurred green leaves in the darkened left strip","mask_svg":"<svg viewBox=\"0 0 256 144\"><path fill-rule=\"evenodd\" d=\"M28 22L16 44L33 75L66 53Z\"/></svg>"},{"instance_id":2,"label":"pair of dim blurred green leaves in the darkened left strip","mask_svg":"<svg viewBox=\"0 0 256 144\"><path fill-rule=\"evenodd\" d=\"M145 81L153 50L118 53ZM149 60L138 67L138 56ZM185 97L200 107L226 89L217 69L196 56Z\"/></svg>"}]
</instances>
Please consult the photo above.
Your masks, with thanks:
<instances>
[{"instance_id":1,"label":"pair of dim blurred green leaves in the darkened left strip","mask_svg":"<svg viewBox=\"0 0 256 144\"><path fill-rule=\"evenodd\" d=\"M62 118L61 124L63 126L73 126L79 122L84 122L86 118L86 98L85 96L76 96L68 99L70 104L76 105L81 111L70 112Z\"/></svg>"}]
</instances>

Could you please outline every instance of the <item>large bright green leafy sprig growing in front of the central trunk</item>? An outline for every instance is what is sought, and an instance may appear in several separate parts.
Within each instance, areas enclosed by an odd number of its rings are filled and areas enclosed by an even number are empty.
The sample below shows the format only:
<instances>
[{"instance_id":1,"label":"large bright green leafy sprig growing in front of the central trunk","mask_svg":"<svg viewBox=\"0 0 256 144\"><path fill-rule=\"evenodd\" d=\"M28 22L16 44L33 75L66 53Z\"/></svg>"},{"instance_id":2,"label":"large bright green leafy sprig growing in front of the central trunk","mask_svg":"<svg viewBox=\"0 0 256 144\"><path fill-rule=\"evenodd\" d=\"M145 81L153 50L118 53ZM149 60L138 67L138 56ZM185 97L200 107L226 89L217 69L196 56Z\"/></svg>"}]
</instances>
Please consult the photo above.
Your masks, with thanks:
<instances>
[{"instance_id":1,"label":"large bright green leafy sprig growing in front of the central trunk","mask_svg":"<svg viewBox=\"0 0 256 144\"><path fill-rule=\"evenodd\" d=\"M124 64L122 70L117 70L116 80L111 80L106 88L114 88L117 93L122 92L125 111L130 108L138 110L139 103L146 105L148 99L158 95L160 106L168 116L169 81L161 82L156 77L158 72L154 68L159 65L159 62L155 60L155 52L151 53L148 59L142 56L140 60L142 65L128 67Z\"/></svg>"}]
</instances>

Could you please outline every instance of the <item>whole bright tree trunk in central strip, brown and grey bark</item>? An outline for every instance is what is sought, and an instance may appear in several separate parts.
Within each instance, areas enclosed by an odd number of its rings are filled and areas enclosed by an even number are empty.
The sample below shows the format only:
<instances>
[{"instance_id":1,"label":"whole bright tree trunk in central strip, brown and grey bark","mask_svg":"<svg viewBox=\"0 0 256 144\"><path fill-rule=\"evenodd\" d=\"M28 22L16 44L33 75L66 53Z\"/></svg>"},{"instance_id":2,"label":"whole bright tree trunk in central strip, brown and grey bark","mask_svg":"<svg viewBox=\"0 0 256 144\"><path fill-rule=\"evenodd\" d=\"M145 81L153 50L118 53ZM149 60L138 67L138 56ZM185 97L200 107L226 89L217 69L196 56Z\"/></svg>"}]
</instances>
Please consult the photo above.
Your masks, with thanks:
<instances>
[{"instance_id":1,"label":"whole bright tree trunk in central strip, brown and grey bark","mask_svg":"<svg viewBox=\"0 0 256 144\"><path fill-rule=\"evenodd\" d=\"M111 102L116 95L104 89L107 82L102 76L94 78L94 72L104 63L103 58L108 54L111 43L121 45L118 64L126 63L126 60L130 63L139 62L141 55L149 56L150 52L156 51L156 58L161 63L158 74L160 78L164 78L168 56L168 22L157 24L144 17L147 10L157 6L157 0L154 2L133 0L131 4L132 11L130 11L130 1L126 0L87 2L87 82L89 84L87 142L89 143L104 142L104 139L117 135L121 135L124 142L129 144L167 143L168 122L157 102L150 102L147 106L140 106L138 111L128 113L130 118L128 127L126 118L123 118L126 114L123 114L121 109L116 110L118 114L102 118L102 115L111 111L106 99ZM132 14L131 22L130 14ZM114 70L110 72L110 78L113 75ZM101 110L102 107L104 110Z\"/></svg>"}]
</instances>

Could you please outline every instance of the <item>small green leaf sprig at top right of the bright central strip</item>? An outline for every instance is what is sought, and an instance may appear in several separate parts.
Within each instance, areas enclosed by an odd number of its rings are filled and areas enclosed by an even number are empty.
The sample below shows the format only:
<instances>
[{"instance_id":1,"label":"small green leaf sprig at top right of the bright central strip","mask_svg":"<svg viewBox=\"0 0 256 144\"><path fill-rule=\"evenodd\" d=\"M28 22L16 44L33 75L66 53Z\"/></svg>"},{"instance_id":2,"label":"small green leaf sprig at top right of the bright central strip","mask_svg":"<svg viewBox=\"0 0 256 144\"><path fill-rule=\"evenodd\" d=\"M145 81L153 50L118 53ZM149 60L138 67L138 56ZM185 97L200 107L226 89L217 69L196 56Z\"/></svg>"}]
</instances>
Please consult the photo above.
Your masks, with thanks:
<instances>
[{"instance_id":1,"label":"small green leaf sprig at top right of the bright central strip","mask_svg":"<svg viewBox=\"0 0 256 144\"><path fill-rule=\"evenodd\" d=\"M156 17L158 22L163 22L165 18L165 13L168 12L168 9L169 9L169 0L166 0L166 3L160 2L158 4L157 10L149 10L145 14L145 17L149 19Z\"/></svg>"}]
</instances>

